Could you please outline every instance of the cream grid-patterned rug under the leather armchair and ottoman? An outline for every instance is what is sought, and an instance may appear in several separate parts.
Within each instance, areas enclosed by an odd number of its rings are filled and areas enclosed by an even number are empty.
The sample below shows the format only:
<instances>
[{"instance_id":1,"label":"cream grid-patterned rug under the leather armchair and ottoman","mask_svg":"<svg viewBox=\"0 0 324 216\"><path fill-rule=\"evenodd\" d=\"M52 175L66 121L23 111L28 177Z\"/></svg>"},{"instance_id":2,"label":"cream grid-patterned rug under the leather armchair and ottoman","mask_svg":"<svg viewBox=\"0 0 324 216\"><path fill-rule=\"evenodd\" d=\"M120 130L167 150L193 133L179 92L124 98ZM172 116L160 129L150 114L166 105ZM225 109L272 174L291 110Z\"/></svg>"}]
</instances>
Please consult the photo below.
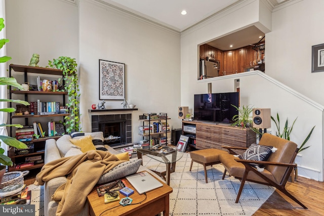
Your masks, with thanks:
<instances>
[{"instance_id":1,"label":"cream grid-patterned rug under the leather armchair and ottoman","mask_svg":"<svg viewBox=\"0 0 324 216\"><path fill-rule=\"evenodd\" d=\"M170 215L252 215L275 189L246 182L235 203L239 180L228 176L222 180L224 167L216 164L207 167L206 183L204 166L194 162L189 171L190 162L190 154L184 153L170 176ZM143 156L143 165L155 171L166 169L164 163L147 156Z\"/></svg>"}]
</instances>

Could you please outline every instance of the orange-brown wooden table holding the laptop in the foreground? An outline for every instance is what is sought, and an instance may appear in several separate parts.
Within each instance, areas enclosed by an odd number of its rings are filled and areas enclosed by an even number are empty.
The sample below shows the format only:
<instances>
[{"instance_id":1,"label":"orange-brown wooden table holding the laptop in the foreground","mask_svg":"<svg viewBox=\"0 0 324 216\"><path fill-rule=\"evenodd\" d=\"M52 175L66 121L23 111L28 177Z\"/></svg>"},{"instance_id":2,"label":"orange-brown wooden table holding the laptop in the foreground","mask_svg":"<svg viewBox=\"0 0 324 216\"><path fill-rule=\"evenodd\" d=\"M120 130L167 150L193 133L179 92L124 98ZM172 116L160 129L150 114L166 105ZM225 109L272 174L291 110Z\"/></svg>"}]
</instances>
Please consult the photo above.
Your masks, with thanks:
<instances>
[{"instance_id":1,"label":"orange-brown wooden table holding the laptop in the foreground","mask_svg":"<svg viewBox=\"0 0 324 216\"><path fill-rule=\"evenodd\" d=\"M154 177L155 178L155 177ZM156 178L155 178L156 179ZM157 179L158 180L158 179ZM134 194L130 197L133 199L132 203L138 203L145 199L145 195L138 194L133 186L126 180L123 181L127 184L127 187L134 190ZM161 182L160 180L158 180ZM163 212L163 215L169 215L169 194L172 193L172 188L161 182L162 187L146 193L147 198L141 204L122 206L118 201L111 203L104 203L104 197L98 196L96 189L87 196L89 203L89 215L157 215ZM124 198L123 194L119 194L120 199ZM108 209L108 210L107 210Z\"/></svg>"}]
</instances>

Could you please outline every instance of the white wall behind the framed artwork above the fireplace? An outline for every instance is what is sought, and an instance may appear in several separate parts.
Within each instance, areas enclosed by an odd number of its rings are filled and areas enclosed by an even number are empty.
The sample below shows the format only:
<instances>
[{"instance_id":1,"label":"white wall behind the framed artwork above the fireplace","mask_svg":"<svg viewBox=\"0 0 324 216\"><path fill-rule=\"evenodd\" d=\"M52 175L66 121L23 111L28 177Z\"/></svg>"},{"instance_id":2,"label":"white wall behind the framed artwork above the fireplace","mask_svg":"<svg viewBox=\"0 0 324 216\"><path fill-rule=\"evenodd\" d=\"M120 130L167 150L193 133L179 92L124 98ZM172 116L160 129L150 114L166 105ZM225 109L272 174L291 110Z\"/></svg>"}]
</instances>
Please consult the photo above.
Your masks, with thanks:
<instances>
[{"instance_id":1,"label":"white wall behind the framed artwork above the fireplace","mask_svg":"<svg viewBox=\"0 0 324 216\"><path fill-rule=\"evenodd\" d=\"M99 59L126 64L126 100L133 111L133 142L139 115L166 112L178 128L180 106L180 35L93 1L79 2L81 122L91 130L88 109L99 101ZM106 101L106 108L123 108ZM171 134L169 134L171 138Z\"/></svg>"}]
</instances>

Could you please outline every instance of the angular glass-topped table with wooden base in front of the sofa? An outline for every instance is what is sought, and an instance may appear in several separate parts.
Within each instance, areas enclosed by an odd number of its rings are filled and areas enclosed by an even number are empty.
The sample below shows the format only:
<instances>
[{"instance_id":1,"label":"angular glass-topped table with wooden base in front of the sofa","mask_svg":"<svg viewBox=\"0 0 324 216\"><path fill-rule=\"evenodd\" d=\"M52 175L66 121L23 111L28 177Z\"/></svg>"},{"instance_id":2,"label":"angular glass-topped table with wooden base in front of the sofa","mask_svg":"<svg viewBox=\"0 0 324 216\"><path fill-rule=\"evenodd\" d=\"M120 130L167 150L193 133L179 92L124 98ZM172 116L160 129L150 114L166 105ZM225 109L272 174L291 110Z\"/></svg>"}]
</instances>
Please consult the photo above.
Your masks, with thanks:
<instances>
[{"instance_id":1,"label":"angular glass-topped table with wooden base in front of the sofa","mask_svg":"<svg viewBox=\"0 0 324 216\"><path fill-rule=\"evenodd\" d=\"M142 158L143 154L166 164L166 171L152 171L162 177L166 181L167 185L170 185L170 174L175 171L176 162L182 158L183 152L178 152L175 147L169 146L164 146L159 149L137 149L137 157L139 159Z\"/></svg>"}]
</instances>

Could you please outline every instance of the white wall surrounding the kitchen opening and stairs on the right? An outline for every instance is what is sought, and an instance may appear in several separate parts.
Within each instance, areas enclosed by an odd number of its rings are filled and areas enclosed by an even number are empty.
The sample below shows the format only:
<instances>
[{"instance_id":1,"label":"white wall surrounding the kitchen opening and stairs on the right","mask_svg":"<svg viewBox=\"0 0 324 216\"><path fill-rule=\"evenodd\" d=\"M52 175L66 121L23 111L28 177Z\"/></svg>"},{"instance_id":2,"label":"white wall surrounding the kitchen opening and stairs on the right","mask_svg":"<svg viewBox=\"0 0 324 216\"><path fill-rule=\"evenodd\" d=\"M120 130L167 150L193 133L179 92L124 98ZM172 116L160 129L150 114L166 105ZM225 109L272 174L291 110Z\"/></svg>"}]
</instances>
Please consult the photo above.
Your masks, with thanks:
<instances>
[{"instance_id":1,"label":"white wall surrounding the kitchen opening and stairs on the right","mask_svg":"<svg viewBox=\"0 0 324 216\"><path fill-rule=\"evenodd\" d=\"M242 1L239 8L232 8L211 20L201 23L181 33L181 105L192 109L193 95L207 93L207 83L212 82L212 93L233 92L234 79L240 79L241 105L271 108L271 115L276 112L281 122L286 118L293 121L298 117L291 140L300 145L313 125L316 125L310 148L301 152L299 175L323 181L323 114L324 98L321 94L324 86L320 84L324 73L311 73L311 46L322 44L322 31L318 29L324 22L321 11L324 2L294 1L288 7L276 9L272 13L272 23L254 10L267 10L264 1ZM252 12L252 13L251 13ZM258 14L258 15L255 15ZM267 16L268 13L263 15ZM271 24L271 26L269 26ZM307 96L319 104L319 108L309 108L304 100L296 100L291 94L273 91L272 85L260 81L256 76L233 75L210 80L197 80L198 45L221 37L246 26L267 26L266 33L266 71L265 73L293 90ZM256 84L260 81L262 84ZM256 88L258 86L258 88ZM290 103L293 101L292 103ZM308 99L307 99L308 101ZM280 103L278 103L280 102ZM288 103L289 102L289 103ZM285 119L285 120L282 120ZM273 124L273 123L272 123ZM272 134L275 129L272 125ZM307 146L307 145L306 145Z\"/></svg>"}]
</instances>

